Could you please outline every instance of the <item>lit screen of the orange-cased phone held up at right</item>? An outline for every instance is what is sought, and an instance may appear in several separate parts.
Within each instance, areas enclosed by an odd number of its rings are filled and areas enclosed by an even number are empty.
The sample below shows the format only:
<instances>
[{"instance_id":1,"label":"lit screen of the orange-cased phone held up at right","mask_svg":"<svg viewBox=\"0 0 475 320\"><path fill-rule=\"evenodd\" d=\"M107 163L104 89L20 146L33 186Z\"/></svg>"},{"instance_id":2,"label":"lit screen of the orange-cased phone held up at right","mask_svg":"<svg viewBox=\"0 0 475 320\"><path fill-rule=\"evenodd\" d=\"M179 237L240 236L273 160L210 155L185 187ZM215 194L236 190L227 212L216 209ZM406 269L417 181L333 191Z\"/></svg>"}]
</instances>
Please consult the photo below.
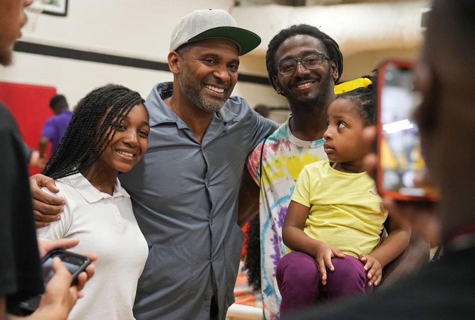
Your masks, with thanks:
<instances>
[{"instance_id":1,"label":"lit screen of the orange-cased phone held up at right","mask_svg":"<svg viewBox=\"0 0 475 320\"><path fill-rule=\"evenodd\" d=\"M379 188L396 199L427 197L429 190L414 184L415 178L426 171L426 163L413 120L421 101L420 94L413 91L413 69L387 63L380 72Z\"/></svg>"}]
</instances>

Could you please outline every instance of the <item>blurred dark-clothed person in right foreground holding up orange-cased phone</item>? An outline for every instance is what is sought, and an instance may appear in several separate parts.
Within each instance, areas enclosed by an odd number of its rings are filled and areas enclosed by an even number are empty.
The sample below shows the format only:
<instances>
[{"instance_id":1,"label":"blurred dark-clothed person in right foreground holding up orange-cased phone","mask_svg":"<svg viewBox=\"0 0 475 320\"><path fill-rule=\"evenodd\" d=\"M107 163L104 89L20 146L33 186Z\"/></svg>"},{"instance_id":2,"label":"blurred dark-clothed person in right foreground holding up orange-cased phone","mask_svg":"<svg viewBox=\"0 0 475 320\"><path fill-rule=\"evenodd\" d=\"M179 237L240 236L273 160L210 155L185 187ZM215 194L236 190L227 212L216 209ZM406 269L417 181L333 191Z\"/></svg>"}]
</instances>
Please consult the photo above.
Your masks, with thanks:
<instances>
[{"instance_id":1,"label":"blurred dark-clothed person in right foreground holding up orange-cased phone","mask_svg":"<svg viewBox=\"0 0 475 320\"><path fill-rule=\"evenodd\" d=\"M475 313L475 2L435 0L416 66L423 102L416 119L431 178L440 188L438 211L423 203L384 204L429 238L444 256L368 299L312 309L287 319L472 319ZM450 152L454 151L454 152ZM373 156L374 157L374 156ZM434 222L434 214L440 221ZM422 228L421 228L422 227Z\"/></svg>"}]
</instances>

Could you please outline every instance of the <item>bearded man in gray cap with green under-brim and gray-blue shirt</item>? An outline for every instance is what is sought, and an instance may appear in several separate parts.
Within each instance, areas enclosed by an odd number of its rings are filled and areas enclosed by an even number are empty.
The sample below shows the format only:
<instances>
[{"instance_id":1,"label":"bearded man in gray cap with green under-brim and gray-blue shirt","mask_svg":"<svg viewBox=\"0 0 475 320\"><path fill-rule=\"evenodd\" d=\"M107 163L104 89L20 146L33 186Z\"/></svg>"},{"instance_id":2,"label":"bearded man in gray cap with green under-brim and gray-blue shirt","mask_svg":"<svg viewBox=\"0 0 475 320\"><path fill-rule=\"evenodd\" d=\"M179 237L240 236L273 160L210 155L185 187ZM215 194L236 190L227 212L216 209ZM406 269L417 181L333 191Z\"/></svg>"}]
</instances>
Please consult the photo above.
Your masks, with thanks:
<instances>
[{"instance_id":1,"label":"bearded man in gray cap with green under-brim and gray-blue shirt","mask_svg":"<svg viewBox=\"0 0 475 320\"><path fill-rule=\"evenodd\" d=\"M247 155L277 129L230 97L239 55L260 41L224 10L196 10L173 31L173 82L156 84L145 102L148 152L119 177L149 247L134 306L138 320L225 319L234 302L244 238L237 224L241 173ZM37 216L47 219L42 213L57 212L51 207L37 206Z\"/></svg>"}]
</instances>

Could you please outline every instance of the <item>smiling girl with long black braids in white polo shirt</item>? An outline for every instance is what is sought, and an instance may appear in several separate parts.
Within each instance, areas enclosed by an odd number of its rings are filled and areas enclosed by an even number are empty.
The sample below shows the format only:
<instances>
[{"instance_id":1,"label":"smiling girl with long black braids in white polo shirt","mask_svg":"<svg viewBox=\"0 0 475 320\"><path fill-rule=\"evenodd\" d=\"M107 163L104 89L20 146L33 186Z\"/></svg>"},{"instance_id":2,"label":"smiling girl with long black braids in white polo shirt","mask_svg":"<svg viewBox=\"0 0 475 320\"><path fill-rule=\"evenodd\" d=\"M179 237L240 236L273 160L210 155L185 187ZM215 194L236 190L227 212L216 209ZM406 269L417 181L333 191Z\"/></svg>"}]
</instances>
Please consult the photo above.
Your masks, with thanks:
<instances>
[{"instance_id":1,"label":"smiling girl with long black braids in white polo shirt","mask_svg":"<svg viewBox=\"0 0 475 320\"><path fill-rule=\"evenodd\" d=\"M148 148L148 112L139 93L121 85L98 87L82 98L43 174L66 200L60 220L37 231L39 239L79 239L71 251L95 252L95 277L69 320L134 319L137 281L147 243L117 178ZM67 265L67 263L66 263Z\"/></svg>"}]
</instances>

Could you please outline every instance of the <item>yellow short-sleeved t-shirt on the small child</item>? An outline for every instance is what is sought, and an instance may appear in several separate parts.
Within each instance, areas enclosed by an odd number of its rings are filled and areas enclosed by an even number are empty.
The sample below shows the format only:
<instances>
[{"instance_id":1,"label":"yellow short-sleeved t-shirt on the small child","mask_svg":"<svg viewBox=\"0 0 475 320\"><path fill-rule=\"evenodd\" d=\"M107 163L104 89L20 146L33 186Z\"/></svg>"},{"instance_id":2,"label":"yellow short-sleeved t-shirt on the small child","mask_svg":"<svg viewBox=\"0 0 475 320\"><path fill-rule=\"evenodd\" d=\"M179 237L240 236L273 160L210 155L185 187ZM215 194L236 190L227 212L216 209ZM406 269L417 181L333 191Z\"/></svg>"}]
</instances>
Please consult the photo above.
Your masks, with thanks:
<instances>
[{"instance_id":1,"label":"yellow short-sleeved t-shirt on the small child","mask_svg":"<svg viewBox=\"0 0 475 320\"><path fill-rule=\"evenodd\" d=\"M341 172L329 160L308 164L291 200L310 208L304 228L310 238L354 257L378 246L387 211L366 172Z\"/></svg>"}]
</instances>

